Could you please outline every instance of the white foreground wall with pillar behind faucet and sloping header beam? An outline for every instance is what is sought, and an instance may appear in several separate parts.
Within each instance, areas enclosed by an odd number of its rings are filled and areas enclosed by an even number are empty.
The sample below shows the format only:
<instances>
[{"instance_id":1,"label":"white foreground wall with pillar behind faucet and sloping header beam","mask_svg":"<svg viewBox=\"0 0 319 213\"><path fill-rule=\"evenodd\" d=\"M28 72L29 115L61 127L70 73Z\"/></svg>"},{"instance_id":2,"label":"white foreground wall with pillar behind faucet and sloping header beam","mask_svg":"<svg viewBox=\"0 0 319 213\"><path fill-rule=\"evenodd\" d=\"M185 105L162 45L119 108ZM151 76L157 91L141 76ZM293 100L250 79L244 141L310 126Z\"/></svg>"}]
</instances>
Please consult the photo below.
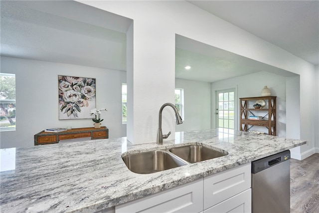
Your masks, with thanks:
<instances>
[{"instance_id":1,"label":"white foreground wall with pillar behind faucet and sloping header beam","mask_svg":"<svg viewBox=\"0 0 319 213\"><path fill-rule=\"evenodd\" d=\"M129 139L133 143L156 141L160 106L174 101L175 34L300 74L301 94L312 94L315 89L313 64L187 1L80 2L134 20L134 121L128 126L134 128ZM301 103L301 139L313 141L314 98L301 96ZM163 123L163 132L173 133L173 115L163 116L172 120Z\"/></svg>"}]
</instances>

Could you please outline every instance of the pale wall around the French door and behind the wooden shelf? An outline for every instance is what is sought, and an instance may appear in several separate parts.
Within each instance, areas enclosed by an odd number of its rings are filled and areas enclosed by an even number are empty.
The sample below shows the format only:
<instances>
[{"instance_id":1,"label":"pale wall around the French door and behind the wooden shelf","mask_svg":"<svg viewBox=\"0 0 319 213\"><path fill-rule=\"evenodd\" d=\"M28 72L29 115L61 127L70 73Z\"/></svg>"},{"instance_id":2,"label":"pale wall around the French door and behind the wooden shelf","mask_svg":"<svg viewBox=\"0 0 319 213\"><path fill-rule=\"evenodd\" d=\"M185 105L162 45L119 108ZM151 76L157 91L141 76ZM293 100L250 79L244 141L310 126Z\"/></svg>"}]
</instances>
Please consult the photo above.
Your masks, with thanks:
<instances>
[{"instance_id":1,"label":"pale wall around the French door and behind the wooden shelf","mask_svg":"<svg viewBox=\"0 0 319 213\"><path fill-rule=\"evenodd\" d=\"M229 78L223 81L212 83L212 94L217 90L235 88L237 86L237 99L245 97L261 96L261 90L267 86L271 90L272 96L277 96L277 136L286 136L286 77L272 74L269 72L257 72L250 75L244 75L235 78ZM214 95L212 96L214 97ZM215 103L215 100L212 102ZM240 105L237 102L237 109ZM214 109L215 106L212 106ZM262 116L262 115L260 115ZM239 114L237 114L237 127L239 130ZM212 114L215 120L215 114ZM253 127L255 131L268 132L265 128Z\"/></svg>"}]
</instances>

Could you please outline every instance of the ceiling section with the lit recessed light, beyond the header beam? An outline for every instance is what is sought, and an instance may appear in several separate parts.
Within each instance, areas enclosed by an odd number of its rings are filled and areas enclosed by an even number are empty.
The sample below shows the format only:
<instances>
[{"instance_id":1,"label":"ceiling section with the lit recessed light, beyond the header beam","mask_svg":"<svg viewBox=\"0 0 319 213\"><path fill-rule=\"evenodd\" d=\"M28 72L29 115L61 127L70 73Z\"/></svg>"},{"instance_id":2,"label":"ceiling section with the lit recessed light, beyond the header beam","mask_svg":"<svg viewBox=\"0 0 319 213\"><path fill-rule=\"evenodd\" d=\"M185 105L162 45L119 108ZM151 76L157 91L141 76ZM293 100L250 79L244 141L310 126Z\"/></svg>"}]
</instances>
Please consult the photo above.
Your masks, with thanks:
<instances>
[{"instance_id":1,"label":"ceiling section with the lit recessed light, beyond the header beam","mask_svg":"<svg viewBox=\"0 0 319 213\"><path fill-rule=\"evenodd\" d=\"M215 82L261 71L285 77L295 75L181 35L176 35L175 41L176 78ZM185 69L185 65L191 65L191 69Z\"/></svg>"}]
</instances>

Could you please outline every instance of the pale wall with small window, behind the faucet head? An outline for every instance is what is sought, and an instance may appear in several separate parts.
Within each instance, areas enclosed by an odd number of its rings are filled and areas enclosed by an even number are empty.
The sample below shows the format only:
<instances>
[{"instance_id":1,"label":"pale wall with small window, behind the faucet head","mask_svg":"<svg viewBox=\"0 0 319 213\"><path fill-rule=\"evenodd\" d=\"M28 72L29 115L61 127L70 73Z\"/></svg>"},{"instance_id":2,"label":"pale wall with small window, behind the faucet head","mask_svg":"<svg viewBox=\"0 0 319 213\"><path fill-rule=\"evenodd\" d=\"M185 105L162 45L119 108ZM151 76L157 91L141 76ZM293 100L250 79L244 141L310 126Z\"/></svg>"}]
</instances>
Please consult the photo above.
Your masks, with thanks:
<instances>
[{"instance_id":1,"label":"pale wall with small window, behind the faucet head","mask_svg":"<svg viewBox=\"0 0 319 213\"><path fill-rule=\"evenodd\" d=\"M210 129L210 83L175 78L175 88L184 89L183 123L175 131Z\"/></svg>"}]
</instances>

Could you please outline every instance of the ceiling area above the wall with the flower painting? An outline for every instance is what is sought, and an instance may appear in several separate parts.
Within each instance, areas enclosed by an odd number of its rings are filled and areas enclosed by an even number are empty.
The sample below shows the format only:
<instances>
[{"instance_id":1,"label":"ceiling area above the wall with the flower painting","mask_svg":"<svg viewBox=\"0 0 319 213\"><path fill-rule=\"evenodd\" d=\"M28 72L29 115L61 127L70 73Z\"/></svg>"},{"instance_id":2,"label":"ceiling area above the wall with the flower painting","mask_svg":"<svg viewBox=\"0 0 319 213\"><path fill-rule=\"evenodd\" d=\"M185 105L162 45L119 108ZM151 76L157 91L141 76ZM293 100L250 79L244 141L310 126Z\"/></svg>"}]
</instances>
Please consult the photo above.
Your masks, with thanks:
<instances>
[{"instance_id":1,"label":"ceiling area above the wall with the flower painting","mask_svg":"<svg viewBox=\"0 0 319 213\"><path fill-rule=\"evenodd\" d=\"M1 55L126 70L131 19L69 0L0 3Z\"/></svg>"}]
</instances>

